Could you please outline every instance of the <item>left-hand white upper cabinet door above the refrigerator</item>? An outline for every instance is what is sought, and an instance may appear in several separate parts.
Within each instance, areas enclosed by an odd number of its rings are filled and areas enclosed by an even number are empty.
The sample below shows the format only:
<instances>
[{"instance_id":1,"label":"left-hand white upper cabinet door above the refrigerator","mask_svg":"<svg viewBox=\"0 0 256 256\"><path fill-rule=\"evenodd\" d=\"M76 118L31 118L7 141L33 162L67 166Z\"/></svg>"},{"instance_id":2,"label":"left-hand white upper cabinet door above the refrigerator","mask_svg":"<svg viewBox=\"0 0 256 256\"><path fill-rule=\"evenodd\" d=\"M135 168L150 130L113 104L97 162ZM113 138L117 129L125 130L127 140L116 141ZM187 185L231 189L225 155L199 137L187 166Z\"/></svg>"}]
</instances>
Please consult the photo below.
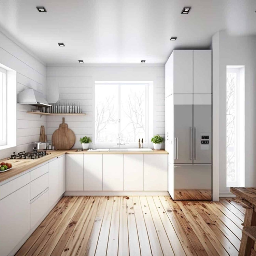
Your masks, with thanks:
<instances>
[{"instance_id":1,"label":"left-hand white upper cabinet door above the refrigerator","mask_svg":"<svg viewBox=\"0 0 256 256\"><path fill-rule=\"evenodd\" d=\"M173 93L193 94L193 50L173 51Z\"/></svg>"}]
</instances>

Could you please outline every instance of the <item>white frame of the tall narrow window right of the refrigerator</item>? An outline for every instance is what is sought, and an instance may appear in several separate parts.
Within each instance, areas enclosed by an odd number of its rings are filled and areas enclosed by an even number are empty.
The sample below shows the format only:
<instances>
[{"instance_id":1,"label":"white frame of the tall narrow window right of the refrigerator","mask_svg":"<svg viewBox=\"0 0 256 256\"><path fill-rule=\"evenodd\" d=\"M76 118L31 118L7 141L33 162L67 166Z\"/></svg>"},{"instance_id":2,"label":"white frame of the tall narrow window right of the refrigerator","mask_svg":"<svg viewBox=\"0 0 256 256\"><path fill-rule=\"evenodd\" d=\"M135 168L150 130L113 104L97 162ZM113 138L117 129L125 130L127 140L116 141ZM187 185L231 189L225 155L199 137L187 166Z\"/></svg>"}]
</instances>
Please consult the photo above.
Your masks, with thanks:
<instances>
[{"instance_id":1,"label":"white frame of the tall narrow window right of the refrigerator","mask_svg":"<svg viewBox=\"0 0 256 256\"><path fill-rule=\"evenodd\" d=\"M235 123L235 181L227 181L227 187L244 187L245 184L245 127L244 127L244 66L227 66L227 73L237 74L237 85L235 88L236 98L236 123ZM226 154L227 157L227 154Z\"/></svg>"}]
</instances>

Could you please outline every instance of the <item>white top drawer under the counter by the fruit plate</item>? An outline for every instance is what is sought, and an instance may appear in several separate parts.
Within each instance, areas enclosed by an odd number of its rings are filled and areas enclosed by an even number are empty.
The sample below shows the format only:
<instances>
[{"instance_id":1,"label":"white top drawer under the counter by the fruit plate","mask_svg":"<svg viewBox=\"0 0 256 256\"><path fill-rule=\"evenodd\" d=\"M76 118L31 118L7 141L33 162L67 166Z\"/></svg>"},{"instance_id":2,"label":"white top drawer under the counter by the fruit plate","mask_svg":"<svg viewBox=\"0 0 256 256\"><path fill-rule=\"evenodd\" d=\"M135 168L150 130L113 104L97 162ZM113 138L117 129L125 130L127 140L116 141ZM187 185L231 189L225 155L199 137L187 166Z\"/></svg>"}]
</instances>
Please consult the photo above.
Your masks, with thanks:
<instances>
[{"instance_id":1,"label":"white top drawer under the counter by the fruit plate","mask_svg":"<svg viewBox=\"0 0 256 256\"><path fill-rule=\"evenodd\" d=\"M26 173L15 180L12 180L4 185L0 186L0 200L4 197L12 194L14 191L19 188L29 184L29 173Z\"/></svg>"}]
</instances>

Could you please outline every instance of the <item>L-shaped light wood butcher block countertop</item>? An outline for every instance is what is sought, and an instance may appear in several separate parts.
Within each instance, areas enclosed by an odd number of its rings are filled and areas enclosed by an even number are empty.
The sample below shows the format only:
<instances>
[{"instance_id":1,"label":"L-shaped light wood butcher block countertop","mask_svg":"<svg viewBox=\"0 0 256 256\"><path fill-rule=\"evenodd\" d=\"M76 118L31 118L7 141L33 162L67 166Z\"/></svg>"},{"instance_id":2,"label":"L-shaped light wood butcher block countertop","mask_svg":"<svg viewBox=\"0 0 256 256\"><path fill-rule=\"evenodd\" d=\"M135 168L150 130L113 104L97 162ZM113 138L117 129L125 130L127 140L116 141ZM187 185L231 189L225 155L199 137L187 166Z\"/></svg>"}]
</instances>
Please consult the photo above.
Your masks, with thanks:
<instances>
[{"instance_id":1,"label":"L-shaped light wood butcher block countertop","mask_svg":"<svg viewBox=\"0 0 256 256\"><path fill-rule=\"evenodd\" d=\"M12 177L32 169L38 165L41 165L44 162L47 162L55 157L64 155L64 154L168 154L165 150L153 150L149 152L127 152L127 151L118 151L118 152L87 152L87 150L76 152L76 150L55 150L47 151L48 155L40 157L38 159L2 159L1 162L8 162L12 164L12 169L6 172L0 173L0 183L11 179ZM1 185L1 184L0 184Z\"/></svg>"}]
</instances>

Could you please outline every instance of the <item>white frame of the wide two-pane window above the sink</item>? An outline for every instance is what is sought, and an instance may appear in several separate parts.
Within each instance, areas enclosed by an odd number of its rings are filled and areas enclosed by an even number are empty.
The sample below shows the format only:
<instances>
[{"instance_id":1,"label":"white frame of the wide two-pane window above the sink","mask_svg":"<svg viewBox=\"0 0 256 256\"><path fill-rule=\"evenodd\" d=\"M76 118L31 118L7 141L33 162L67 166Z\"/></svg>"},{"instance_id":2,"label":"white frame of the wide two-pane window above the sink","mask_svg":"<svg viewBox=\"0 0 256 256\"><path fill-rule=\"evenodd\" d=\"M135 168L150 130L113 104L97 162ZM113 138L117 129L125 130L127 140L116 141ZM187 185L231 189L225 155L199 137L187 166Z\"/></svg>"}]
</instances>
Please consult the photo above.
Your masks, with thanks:
<instances>
[{"instance_id":1,"label":"white frame of the wide two-pane window above the sink","mask_svg":"<svg viewBox=\"0 0 256 256\"><path fill-rule=\"evenodd\" d=\"M140 84L140 85L144 85L145 86L145 100L146 100L146 109L145 109L145 138L143 138L143 146L146 148L149 145L149 83L150 82L146 82L146 81L95 81L94 83L94 104L93 104L93 146L96 148L116 148L119 147L117 146L117 142L96 142L95 141L95 85L107 85L107 84L115 84L118 85L118 119L120 120L120 113L121 113L121 90L120 90L120 86L122 85L134 85L134 84ZM152 113L153 115L153 113ZM120 127L121 127L121 122L122 120L119 121L119 127L118 127L118 132L120 133ZM142 138L141 138L142 139ZM138 142L124 142L122 141L121 143L125 143L125 145L121 145L121 148L137 148L139 147L139 141Z\"/></svg>"}]
</instances>

